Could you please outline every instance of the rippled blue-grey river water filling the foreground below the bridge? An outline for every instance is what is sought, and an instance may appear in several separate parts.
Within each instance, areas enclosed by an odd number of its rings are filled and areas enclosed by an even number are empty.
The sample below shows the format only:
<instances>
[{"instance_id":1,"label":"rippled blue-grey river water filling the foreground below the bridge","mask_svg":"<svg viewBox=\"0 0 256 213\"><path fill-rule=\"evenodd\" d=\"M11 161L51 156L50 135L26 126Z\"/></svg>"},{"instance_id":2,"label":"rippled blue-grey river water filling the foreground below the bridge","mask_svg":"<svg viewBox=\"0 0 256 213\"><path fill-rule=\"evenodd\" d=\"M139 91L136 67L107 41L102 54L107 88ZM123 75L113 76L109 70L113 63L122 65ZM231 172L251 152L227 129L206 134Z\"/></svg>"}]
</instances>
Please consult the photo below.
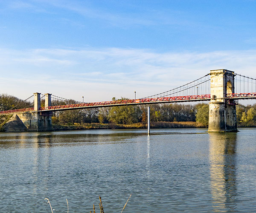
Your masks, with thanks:
<instances>
[{"instance_id":1,"label":"rippled blue-grey river water filling the foreground below the bridge","mask_svg":"<svg viewBox=\"0 0 256 213\"><path fill-rule=\"evenodd\" d=\"M256 212L256 128L0 133L0 212Z\"/></svg>"}]
</instances>

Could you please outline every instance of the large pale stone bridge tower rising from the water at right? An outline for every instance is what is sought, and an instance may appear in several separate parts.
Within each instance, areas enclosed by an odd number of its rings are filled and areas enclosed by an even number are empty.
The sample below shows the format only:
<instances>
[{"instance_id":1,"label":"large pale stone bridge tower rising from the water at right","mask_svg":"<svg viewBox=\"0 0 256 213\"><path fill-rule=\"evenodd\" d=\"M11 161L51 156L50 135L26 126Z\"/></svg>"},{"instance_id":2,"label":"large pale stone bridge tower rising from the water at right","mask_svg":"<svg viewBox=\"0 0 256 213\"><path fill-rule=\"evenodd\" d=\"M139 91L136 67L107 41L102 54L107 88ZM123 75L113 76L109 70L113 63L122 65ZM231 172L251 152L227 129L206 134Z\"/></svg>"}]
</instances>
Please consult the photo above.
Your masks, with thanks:
<instances>
[{"instance_id":1,"label":"large pale stone bridge tower rising from the water at right","mask_svg":"<svg viewBox=\"0 0 256 213\"><path fill-rule=\"evenodd\" d=\"M226 69L211 70L211 101L208 132L237 132L236 105L227 104L226 95L235 92L235 73Z\"/></svg>"}]
</instances>

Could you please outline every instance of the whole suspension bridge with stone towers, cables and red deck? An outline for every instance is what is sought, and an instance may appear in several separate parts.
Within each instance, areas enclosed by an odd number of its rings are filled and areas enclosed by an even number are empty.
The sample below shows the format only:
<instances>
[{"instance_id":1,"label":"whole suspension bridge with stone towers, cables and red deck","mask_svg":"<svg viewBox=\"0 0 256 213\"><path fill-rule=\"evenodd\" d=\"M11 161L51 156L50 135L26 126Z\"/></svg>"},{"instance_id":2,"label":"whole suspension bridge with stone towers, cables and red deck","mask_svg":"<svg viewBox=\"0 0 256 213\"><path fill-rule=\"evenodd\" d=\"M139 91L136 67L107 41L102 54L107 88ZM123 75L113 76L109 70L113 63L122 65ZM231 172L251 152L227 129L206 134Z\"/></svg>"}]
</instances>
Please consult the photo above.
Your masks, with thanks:
<instances>
[{"instance_id":1,"label":"whole suspension bridge with stone towers, cables and red deck","mask_svg":"<svg viewBox=\"0 0 256 213\"><path fill-rule=\"evenodd\" d=\"M256 78L240 75L226 69L211 70L210 73L174 89L139 99L81 103L52 94L34 93L34 107L1 111L0 115L23 114L28 129L46 130L51 128L51 113L54 111L114 107L137 104L161 104L190 101L209 101L209 131L236 131L236 105L239 99L256 98ZM41 98L45 106L41 107ZM29 99L27 98L27 99ZM26 100L27 100L26 99ZM57 99L67 104L52 106ZM72 103L70 103L72 102ZM28 114L32 114L29 118ZM25 117L25 118L23 118ZM30 120L29 120L30 119ZM43 122L41 121L43 120ZM28 122L29 121L29 124ZM37 121L37 125L32 125ZM41 122L41 123L40 123ZM34 122L35 123L35 122ZM30 126L29 126L30 125ZM32 127L33 126L33 127Z\"/></svg>"}]
</instances>

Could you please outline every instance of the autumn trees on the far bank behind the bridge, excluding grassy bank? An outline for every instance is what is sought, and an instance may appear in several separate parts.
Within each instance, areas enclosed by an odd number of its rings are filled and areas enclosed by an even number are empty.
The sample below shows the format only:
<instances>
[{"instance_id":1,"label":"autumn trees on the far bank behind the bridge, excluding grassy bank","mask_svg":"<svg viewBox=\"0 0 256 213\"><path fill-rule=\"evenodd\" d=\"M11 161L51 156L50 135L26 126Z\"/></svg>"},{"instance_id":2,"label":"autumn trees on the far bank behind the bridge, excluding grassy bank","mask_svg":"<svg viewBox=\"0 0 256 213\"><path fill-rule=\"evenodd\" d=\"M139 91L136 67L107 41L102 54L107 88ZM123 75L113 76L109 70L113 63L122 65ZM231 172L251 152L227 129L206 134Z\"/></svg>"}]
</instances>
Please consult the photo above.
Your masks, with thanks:
<instances>
[{"instance_id":1,"label":"autumn trees on the far bank behind the bridge, excluding grassy bank","mask_svg":"<svg viewBox=\"0 0 256 213\"><path fill-rule=\"evenodd\" d=\"M117 100L125 100L121 98ZM116 98L112 98L116 100ZM76 101L52 100L52 106L75 104ZM44 100L41 101L44 107ZM151 121L196 121L198 127L208 126L209 104L150 104ZM0 111L33 107L33 103L15 96L0 94ZM256 127L256 104L236 107L241 127ZM102 107L53 112L53 124L100 123L134 124L147 122L147 105Z\"/></svg>"}]
</instances>

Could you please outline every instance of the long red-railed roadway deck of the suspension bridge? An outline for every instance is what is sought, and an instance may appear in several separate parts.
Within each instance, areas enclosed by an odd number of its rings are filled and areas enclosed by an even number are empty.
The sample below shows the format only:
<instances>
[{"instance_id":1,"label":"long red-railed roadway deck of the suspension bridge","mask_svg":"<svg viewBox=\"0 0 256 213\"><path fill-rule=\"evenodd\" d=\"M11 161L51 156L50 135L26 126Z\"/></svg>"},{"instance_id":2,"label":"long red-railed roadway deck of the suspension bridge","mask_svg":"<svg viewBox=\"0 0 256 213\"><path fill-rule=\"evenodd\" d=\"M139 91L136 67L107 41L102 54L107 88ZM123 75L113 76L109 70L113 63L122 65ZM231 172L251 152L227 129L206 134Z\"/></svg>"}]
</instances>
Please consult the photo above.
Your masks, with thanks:
<instances>
[{"instance_id":1,"label":"long red-railed roadway deck of the suspension bridge","mask_svg":"<svg viewBox=\"0 0 256 213\"><path fill-rule=\"evenodd\" d=\"M238 99L253 99L256 98L256 93L233 93L227 94L226 99L238 100ZM67 104L60 106L41 107L41 110L35 111L34 108L26 109L14 109L1 111L0 115L13 114L19 112L54 112L72 109L90 109L98 107L118 107L138 104L161 104L161 103L177 103L177 102L190 102L190 101L210 101L211 95L187 95L187 96L176 96L176 97L161 97L161 98L141 98L141 99L130 99L130 100L119 100L119 101L102 101L92 103L81 103L81 104Z\"/></svg>"}]
</instances>

